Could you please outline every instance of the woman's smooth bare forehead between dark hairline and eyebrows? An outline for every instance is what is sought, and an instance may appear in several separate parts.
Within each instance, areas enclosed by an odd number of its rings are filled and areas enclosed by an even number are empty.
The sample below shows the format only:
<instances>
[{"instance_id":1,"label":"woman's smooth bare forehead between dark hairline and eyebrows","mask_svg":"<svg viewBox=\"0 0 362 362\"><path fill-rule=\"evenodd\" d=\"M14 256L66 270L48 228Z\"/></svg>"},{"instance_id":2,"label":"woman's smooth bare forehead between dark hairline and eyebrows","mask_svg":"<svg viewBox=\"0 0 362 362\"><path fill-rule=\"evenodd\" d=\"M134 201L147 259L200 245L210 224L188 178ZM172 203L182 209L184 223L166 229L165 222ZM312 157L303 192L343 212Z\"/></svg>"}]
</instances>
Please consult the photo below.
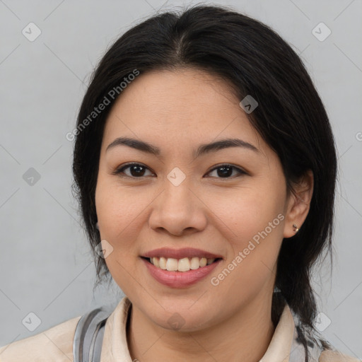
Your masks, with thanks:
<instances>
[{"instance_id":1,"label":"woman's smooth bare forehead between dark hairline and eyebrows","mask_svg":"<svg viewBox=\"0 0 362 362\"><path fill-rule=\"evenodd\" d=\"M151 71L136 77L119 95L103 140L109 144L117 136L132 136L187 146L238 136L259 144L239 103L226 81L204 71Z\"/></svg>"}]
</instances>

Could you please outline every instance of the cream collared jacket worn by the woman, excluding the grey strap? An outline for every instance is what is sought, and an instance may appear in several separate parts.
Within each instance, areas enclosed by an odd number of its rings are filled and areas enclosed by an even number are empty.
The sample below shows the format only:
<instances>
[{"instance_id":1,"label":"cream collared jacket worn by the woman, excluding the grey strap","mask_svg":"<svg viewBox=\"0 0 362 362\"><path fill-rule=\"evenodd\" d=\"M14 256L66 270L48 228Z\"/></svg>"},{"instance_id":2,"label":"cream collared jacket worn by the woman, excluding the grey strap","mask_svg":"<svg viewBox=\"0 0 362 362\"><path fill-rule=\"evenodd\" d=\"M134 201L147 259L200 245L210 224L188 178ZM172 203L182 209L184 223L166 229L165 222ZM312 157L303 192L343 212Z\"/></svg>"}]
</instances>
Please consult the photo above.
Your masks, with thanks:
<instances>
[{"instance_id":1,"label":"cream collared jacket worn by the woman, excluding the grey strap","mask_svg":"<svg viewBox=\"0 0 362 362\"><path fill-rule=\"evenodd\" d=\"M125 296L108 317L100 362L132 362L126 336L131 305L131 301ZM80 318L81 316L75 317L45 332L1 347L0 362L74 362L74 332ZM304 349L297 337L296 316L286 305L260 362L304 362ZM339 351L322 351L316 344L309 348L311 362L360 362L358 358Z\"/></svg>"}]
</instances>

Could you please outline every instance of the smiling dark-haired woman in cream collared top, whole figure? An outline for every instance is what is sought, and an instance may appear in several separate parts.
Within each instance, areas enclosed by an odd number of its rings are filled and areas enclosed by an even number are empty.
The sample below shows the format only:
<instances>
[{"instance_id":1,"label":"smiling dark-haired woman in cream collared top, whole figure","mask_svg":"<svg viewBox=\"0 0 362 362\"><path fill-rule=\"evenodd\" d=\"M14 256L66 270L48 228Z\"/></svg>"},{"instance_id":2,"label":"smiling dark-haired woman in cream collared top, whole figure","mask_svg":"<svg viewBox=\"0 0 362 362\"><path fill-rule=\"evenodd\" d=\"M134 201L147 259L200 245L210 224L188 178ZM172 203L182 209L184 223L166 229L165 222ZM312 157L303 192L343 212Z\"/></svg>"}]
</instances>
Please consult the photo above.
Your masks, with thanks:
<instances>
[{"instance_id":1,"label":"smiling dark-haired woman in cream collared top, whole figure","mask_svg":"<svg viewBox=\"0 0 362 362\"><path fill-rule=\"evenodd\" d=\"M358 361L315 328L337 158L273 30L220 6L153 16L107 51L67 137L98 281L126 296L0 361Z\"/></svg>"}]
</instances>

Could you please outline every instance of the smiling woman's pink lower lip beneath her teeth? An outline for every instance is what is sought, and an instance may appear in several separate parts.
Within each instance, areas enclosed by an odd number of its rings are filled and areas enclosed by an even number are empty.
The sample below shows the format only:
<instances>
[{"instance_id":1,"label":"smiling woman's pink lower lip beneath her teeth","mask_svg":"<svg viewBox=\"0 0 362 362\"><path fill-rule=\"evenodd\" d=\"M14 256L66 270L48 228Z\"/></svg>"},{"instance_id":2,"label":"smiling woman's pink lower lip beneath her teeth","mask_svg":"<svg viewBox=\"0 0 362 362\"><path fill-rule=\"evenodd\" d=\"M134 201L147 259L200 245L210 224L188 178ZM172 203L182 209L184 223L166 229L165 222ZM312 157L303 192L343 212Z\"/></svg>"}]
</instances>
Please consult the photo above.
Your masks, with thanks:
<instances>
[{"instance_id":1,"label":"smiling woman's pink lower lip beneath her teeth","mask_svg":"<svg viewBox=\"0 0 362 362\"><path fill-rule=\"evenodd\" d=\"M222 260L218 259L216 262L206 265L205 267L200 267L199 269L190 269L189 271L168 271L155 267L151 262L148 262L144 258L141 259L156 281L172 288L185 288L192 284L196 284L206 275L210 274Z\"/></svg>"}]
</instances>

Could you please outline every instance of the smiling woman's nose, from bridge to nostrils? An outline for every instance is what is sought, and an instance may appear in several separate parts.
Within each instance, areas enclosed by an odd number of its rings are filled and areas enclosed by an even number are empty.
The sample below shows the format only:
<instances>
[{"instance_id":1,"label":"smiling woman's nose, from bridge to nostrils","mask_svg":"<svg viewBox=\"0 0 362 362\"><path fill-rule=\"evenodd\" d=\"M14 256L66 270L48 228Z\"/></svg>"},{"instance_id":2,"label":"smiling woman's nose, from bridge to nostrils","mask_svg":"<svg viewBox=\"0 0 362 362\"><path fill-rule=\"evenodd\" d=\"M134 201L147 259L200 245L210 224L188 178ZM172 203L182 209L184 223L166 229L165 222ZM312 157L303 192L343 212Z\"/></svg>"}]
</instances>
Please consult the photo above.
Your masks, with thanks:
<instances>
[{"instance_id":1,"label":"smiling woman's nose, from bridge to nostrils","mask_svg":"<svg viewBox=\"0 0 362 362\"><path fill-rule=\"evenodd\" d=\"M151 204L148 225L156 231L165 230L172 235L188 235L206 227L207 206L200 195L190 188L187 179L180 185L165 179L163 192Z\"/></svg>"}]
</instances>

